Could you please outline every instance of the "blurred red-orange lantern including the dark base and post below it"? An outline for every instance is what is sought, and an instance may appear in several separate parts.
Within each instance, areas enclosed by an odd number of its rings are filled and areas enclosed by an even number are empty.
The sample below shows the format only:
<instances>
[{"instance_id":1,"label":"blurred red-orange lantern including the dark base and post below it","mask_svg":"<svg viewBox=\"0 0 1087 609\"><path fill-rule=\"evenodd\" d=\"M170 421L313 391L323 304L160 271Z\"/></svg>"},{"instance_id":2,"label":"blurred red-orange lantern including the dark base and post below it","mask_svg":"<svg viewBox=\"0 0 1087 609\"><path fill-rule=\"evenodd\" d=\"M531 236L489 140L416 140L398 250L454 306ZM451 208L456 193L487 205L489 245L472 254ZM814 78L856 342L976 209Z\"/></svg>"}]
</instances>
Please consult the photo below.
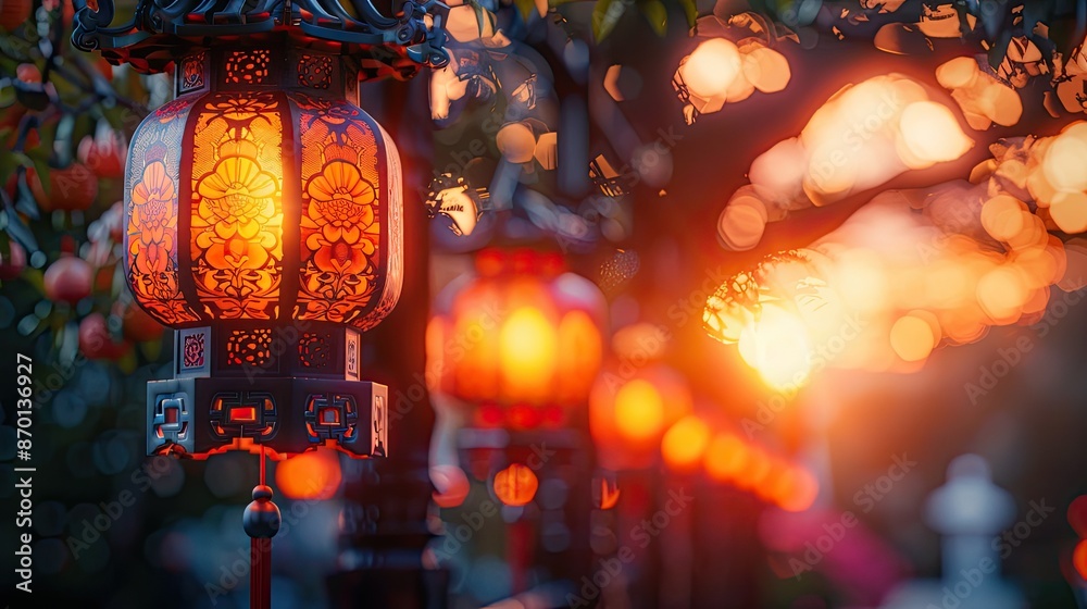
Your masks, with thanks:
<instances>
[{"instance_id":1,"label":"blurred red-orange lantern including the dark base and post below it","mask_svg":"<svg viewBox=\"0 0 1087 609\"><path fill-rule=\"evenodd\" d=\"M578 581L591 569L595 453L584 406L602 361L603 294L564 272L558 254L487 250L436 309L427 383L466 414L457 477L485 482L504 508L511 591ZM457 497L442 489L435 499Z\"/></svg>"}]
</instances>

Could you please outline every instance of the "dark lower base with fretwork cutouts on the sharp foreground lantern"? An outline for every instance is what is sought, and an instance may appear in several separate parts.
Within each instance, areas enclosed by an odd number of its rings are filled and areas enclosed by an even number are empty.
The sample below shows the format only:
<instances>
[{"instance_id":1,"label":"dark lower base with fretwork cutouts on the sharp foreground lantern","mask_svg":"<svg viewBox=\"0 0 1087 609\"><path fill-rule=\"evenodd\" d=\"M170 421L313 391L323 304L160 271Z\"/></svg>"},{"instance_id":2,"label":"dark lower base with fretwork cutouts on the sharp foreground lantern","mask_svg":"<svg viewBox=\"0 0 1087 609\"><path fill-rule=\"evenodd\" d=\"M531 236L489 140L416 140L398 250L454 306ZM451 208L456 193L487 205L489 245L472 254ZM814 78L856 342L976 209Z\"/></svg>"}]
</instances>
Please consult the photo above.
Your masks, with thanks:
<instances>
[{"instance_id":1,"label":"dark lower base with fretwork cutouts on the sharp foreground lantern","mask_svg":"<svg viewBox=\"0 0 1087 609\"><path fill-rule=\"evenodd\" d=\"M274 457L330 444L385 457L388 387L368 381L172 378L147 384L148 455L197 459L261 445Z\"/></svg>"}]
</instances>

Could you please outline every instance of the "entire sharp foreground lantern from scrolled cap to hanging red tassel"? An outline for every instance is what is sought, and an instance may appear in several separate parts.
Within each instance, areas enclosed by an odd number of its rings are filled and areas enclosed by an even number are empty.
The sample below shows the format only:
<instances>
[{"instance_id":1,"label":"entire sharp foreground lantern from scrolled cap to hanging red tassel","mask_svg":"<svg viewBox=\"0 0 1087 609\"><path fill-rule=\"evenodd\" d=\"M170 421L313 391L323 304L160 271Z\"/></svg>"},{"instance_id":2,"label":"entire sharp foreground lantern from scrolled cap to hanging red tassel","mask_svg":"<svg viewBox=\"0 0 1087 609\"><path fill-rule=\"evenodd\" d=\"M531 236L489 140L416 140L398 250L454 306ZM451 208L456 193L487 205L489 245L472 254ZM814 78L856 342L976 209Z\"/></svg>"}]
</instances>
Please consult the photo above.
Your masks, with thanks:
<instances>
[{"instance_id":1,"label":"entire sharp foreground lantern from scrolled cap to hanging red tassel","mask_svg":"<svg viewBox=\"0 0 1087 609\"><path fill-rule=\"evenodd\" d=\"M402 282L401 170L358 84L441 66L434 2L140 3L75 18L73 44L176 99L137 128L125 170L125 271L175 330L174 378L148 383L148 451L386 453L387 388L362 378L360 333ZM357 15L357 16L351 16ZM246 510L252 606L268 605L272 490Z\"/></svg>"}]
</instances>

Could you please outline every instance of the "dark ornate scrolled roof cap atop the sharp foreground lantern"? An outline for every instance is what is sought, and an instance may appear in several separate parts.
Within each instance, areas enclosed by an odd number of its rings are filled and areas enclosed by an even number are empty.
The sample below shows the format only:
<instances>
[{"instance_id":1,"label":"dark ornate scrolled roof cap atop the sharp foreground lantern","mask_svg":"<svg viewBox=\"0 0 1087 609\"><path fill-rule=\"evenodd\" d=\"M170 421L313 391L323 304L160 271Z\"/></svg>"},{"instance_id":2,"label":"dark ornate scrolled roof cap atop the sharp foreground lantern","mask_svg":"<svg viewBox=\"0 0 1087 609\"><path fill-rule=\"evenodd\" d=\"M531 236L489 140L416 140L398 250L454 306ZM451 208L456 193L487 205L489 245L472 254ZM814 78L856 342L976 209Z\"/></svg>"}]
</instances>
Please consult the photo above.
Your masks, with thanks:
<instances>
[{"instance_id":1,"label":"dark ornate scrolled roof cap atop the sharp foreground lantern","mask_svg":"<svg viewBox=\"0 0 1087 609\"><path fill-rule=\"evenodd\" d=\"M399 78L448 63L441 27L448 7L438 0L390 4L392 16L373 0L139 0L128 22L114 24L114 0L98 0L76 12L72 44L141 73L163 72L201 48L285 35L292 44L382 64Z\"/></svg>"}]
</instances>

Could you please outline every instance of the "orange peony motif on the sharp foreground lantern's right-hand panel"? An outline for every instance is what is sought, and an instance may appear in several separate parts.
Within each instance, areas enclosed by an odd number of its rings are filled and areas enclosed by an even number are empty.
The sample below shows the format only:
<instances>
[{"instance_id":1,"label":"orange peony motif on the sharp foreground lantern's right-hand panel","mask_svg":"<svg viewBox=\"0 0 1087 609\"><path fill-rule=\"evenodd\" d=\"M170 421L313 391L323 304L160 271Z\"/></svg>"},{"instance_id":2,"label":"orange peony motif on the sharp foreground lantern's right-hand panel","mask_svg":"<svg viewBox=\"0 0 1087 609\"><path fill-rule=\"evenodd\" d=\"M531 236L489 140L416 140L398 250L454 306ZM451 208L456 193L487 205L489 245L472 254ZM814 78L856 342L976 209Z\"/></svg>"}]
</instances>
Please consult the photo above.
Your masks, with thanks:
<instances>
[{"instance_id":1,"label":"orange peony motif on the sharp foreground lantern's right-hand panel","mask_svg":"<svg viewBox=\"0 0 1087 609\"><path fill-rule=\"evenodd\" d=\"M338 273L361 273L376 251L367 228L374 224L373 185L359 167L333 161L305 188L310 197L302 227L312 231L305 246L314 251L318 269Z\"/></svg>"}]
</instances>

